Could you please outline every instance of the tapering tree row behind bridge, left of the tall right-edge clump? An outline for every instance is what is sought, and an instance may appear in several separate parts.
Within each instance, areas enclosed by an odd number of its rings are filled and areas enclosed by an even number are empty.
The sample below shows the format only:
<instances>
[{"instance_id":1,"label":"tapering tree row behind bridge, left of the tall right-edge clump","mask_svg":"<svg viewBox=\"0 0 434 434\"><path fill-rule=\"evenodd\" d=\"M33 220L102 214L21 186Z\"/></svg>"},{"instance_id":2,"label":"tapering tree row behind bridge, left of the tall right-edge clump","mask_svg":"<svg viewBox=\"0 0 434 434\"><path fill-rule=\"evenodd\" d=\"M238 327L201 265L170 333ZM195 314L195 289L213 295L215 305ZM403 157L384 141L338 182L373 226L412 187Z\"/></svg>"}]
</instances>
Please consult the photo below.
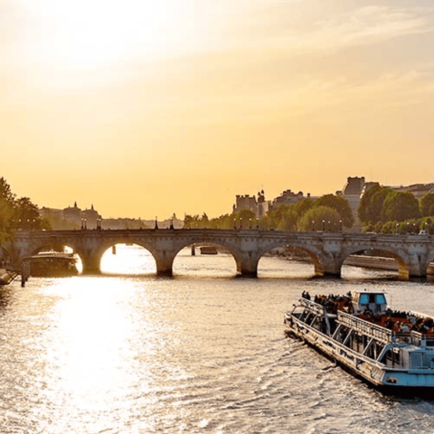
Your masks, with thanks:
<instances>
[{"instance_id":1,"label":"tapering tree row behind bridge, left of the tall right-edge clump","mask_svg":"<svg viewBox=\"0 0 434 434\"><path fill-rule=\"evenodd\" d=\"M241 210L209 219L202 216L186 215L184 228L208 229L276 229L279 231L340 231L351 228L354 217L346 199L334 194L325 194L315 201L303 199L291 205L281 204L276 210L257 219L254 212Z\"/></svg>"}]
</instances>

